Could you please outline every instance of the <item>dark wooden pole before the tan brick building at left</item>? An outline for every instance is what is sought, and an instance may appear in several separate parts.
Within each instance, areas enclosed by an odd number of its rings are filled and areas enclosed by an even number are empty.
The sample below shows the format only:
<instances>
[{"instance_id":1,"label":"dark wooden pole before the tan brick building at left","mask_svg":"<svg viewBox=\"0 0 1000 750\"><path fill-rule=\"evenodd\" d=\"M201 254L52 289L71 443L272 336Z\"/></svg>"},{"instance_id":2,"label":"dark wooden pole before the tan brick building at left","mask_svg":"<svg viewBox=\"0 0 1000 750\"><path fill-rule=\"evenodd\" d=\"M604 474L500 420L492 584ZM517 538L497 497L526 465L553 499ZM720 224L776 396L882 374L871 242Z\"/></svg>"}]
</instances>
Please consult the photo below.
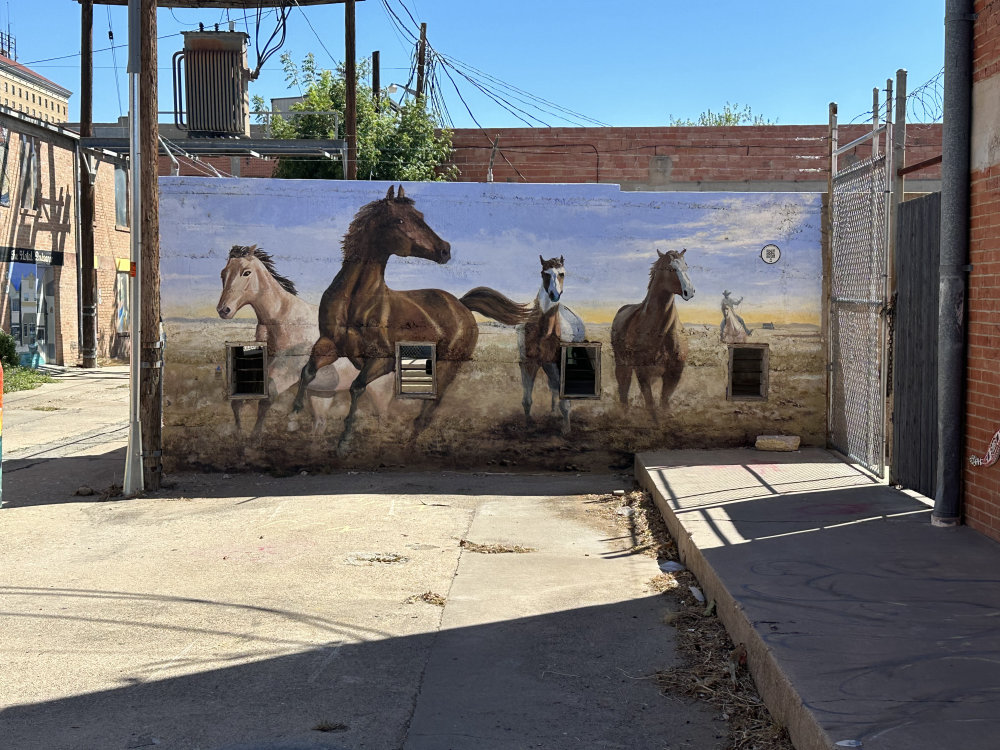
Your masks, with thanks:
<instances>
[{"instance_id":1,"label":"dark wooden pole before the tan brick building at left","mask_svg":"<svg viewBox=\"0 0 1000 750\"><path fill-rule=\"evenodd\" d=\"M94 0L80 5L80 137L94 135ZM80 150L80 354L97 367L97 274L94 271L94 179L97 165Z\"/></svg>"}]
</instances>

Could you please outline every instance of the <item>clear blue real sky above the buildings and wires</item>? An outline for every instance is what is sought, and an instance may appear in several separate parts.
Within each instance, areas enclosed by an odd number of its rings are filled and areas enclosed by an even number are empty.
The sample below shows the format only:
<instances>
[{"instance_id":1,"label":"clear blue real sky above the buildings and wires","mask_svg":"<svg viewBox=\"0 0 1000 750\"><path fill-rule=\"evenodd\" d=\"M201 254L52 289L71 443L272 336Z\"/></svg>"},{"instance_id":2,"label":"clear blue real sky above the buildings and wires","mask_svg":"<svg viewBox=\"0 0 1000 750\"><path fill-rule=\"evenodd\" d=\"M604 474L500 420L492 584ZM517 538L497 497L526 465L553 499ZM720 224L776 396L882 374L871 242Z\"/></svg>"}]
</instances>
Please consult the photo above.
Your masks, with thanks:
<instances>
[{"instance_id":1,"label":"clear blue real sky above the buildings and wires","mask_svg":"<svg viewBox=\"0 0 1000 750\"><path fill-rule=\"evenodd\" d=\"M664 125L671 115L694 118L726 101L749 104L755 113L785 125L825 123L827 105L836 101L842 119L850 120L871 109L872 87L884 86L897 68L909 71L913 89L943 64L943 0L841 0L832 5L802 0L385 3L414 33L407 9L416 21L426 22L430 43L440 53L577 113L556 116L545 105L550 113L544 114L525 106L530 101L525 93L516 94L521 103L510 100L541 122L558 126L592 121ZM109 12L115 43L127 40L125 8L95 6L97 50L110 44ZM0 0L0 27L9 26L16 37L18 61L72 91L79 90L79 57L65 56L79 50L79 14L75 0ZM196 28L199 21L225 23L226 15L216 9L159 10L159 36L166 36L159 42L161 110L172 108L170 57L182 46L179 32ZM242 11L229 11L229 16L245 29ZM249 29L252 37L252 18ZM383 0L358 2L357 29L359 57L381 52L383 86L405 84L412 45L390 20ZM263 37L269 33L267 29ZM293 9L282 51L296 60L314 52L321 66L333 67L343 49L342 5ZM95 55L98 122L128 111L126 57L124 48ZM268 99L297 93L287 89L278 58L272 57L251 84L252 94ZM479 124L524 125L471 83L453 76ZM473 127L447 76L440 78L454 125ZM507 90L505 96L510 95ZM78 97L70 101L70 119L76 120Z\"/></svg>"}]
</instances>

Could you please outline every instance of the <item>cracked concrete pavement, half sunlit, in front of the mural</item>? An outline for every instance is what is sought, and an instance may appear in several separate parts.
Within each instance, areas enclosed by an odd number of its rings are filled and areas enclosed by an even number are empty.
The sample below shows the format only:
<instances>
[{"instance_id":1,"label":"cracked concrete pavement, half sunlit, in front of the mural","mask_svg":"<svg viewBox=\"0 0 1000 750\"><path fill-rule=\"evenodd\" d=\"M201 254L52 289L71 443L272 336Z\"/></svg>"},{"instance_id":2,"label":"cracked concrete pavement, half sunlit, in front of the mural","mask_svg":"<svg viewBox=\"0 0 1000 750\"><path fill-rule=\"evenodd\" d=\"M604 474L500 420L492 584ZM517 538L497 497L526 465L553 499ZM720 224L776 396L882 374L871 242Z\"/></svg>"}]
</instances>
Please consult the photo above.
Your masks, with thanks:
<instances>
[{"instance_id":1,"label":"cracked concrete pavement, half sunlit, in front of the mural","mask_svg":"<svg viewBox=\"0 0 1000 750\"><path fill-rule=\"evenodd\" d=\"M630 475L181 475L100 500L69 488L108 481L124 433L79 422L15 432L5 462L4 747L725 746L648 679L675 663L671 601L597 512Z\"/></svg>"}]
</instances>

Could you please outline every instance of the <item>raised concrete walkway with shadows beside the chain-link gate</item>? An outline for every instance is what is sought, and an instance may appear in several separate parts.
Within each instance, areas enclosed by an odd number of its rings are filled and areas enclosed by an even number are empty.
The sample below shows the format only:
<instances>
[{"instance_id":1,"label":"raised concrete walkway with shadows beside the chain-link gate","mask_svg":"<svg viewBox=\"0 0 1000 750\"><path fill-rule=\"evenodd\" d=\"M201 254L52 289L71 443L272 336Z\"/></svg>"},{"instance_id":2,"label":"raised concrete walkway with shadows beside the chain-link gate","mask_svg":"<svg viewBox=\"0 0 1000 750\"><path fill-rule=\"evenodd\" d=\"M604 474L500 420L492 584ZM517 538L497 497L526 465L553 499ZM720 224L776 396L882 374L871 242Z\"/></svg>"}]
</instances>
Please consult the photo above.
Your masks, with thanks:
<instances>
[{"instance_id":1,"label":"raised concrete walkway with shadows beside the chain-link gate","mask_svg":"<svg viewBox=\"0 0 1000 750\"><path fill-rule=\"evenodd\" d=\"M1000 747L1000 545L822 450L636 473L798 750Z\"/></svg>"}]
</instances>

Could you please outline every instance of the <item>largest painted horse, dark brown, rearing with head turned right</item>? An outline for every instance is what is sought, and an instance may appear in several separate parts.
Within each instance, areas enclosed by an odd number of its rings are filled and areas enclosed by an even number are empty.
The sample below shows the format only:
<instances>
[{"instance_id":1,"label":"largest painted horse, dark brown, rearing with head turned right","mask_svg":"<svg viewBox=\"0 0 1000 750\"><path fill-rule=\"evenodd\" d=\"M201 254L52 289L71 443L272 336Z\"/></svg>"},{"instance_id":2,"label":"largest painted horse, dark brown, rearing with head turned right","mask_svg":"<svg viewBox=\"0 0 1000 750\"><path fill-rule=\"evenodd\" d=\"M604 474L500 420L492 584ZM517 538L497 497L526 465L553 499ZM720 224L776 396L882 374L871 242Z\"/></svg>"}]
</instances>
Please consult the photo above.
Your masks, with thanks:
<instances>
[{"instance_id":1,"label":"largest painted horse, dark brown, rearing with head turned right","mask_svg":"<svg viewBox=\"0 0 1000 750\"><path fill-rule=\"evenodd\" d=\"M463 362L479 338L472 312L507 325L523 322L524 305L497 291L477 287L461 299L440 289L396 291L385 283L389 257L451 260L451 245L441 239L406 197L403 187L362 206L344 235L344 262L319 305L319 338L302 368L293 409L302 408L306 388L324 367L347 357L359 369L351 384L351 409L337 453L346 455L354 436L358 399L368 384L396 366L396 343L435 345L437 398L424 400L413 423L413 437L430 421Z\"/></svg>"}]
</instances>

